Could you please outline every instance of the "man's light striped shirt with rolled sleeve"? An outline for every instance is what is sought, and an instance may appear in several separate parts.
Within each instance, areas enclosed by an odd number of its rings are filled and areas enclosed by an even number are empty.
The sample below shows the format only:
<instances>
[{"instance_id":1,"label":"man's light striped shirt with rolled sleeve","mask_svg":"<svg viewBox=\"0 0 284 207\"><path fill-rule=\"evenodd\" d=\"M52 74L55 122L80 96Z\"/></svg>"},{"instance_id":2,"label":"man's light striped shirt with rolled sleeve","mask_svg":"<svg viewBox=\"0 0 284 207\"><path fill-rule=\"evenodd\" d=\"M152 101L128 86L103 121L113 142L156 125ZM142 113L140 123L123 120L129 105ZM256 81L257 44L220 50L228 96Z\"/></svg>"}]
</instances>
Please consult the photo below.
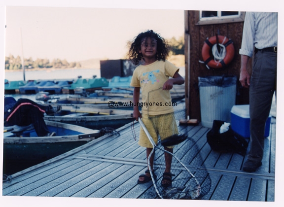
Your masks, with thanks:
<instances>
[{"instance_id":1,"label":"man's light striped shirt with rolled sleeve","mask_svg":"<svg viewBox=\"0 0 284 207\"><path fill-rule=\"evenodd\" d=\"M246 12L240 55L252 56L253 47L277 46L278 13Z\"/></svg>"}]
</instances>

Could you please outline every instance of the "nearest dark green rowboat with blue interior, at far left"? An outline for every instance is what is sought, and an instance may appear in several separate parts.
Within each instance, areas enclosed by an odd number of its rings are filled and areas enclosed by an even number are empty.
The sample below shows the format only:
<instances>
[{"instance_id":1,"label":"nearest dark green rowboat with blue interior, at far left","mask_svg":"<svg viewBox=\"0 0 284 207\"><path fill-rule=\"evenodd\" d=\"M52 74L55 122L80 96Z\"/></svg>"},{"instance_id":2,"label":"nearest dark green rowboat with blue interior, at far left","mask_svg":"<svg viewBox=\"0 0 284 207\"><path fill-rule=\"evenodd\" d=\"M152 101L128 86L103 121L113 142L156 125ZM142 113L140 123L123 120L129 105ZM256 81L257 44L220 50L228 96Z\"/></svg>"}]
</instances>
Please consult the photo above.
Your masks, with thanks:
<instances>
[{"instance_id":1,"label":"nearest dark green rowboat with blue interior, at far left","mask_svg":"<svg viewBox=\"0 0 284 207\"><path fill-rule=\"evenodd\" d=\"M37 137L32 125L4 127L3 172L16 173L43 161L61 155L106 133L112 129L92 130L61 122L45 120L54 137ZM13 172L12 172L13 171Z\"/></svg>"}]
</instances>

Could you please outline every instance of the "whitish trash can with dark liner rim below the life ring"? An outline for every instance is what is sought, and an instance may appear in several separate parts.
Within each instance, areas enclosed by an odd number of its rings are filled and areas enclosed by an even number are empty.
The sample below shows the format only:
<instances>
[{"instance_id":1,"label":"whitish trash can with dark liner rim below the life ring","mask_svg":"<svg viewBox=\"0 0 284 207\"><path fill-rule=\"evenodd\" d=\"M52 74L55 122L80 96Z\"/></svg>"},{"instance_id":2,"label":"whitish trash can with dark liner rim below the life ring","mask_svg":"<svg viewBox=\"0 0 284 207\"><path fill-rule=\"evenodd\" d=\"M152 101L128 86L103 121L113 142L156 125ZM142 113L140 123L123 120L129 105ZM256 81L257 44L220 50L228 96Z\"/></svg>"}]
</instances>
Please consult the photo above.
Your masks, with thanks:
<instances>
[{"instance_id":1,"label":"whitish trash can with dark liner rim below the life ring","mask_svg":"<svg viewBox=\"0 0 284 207\"><path fill-rule=\"evenodd\" d=\"M236 76L198 77L201 124L212 128L214 120L231 121L231 109L236 103Z\"/></svg>"}]
</instances>

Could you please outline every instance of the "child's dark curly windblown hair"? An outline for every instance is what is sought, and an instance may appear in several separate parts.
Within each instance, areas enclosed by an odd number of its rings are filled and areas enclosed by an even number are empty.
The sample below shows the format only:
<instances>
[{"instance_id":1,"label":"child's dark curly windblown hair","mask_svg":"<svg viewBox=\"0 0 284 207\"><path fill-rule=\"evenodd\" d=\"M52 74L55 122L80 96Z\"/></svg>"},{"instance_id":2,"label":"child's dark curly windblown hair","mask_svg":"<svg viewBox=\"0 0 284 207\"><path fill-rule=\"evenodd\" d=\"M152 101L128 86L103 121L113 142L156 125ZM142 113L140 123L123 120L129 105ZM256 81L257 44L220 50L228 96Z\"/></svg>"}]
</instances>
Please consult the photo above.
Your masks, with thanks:
<instances>
[{"instance_id":1,"label":"child's dark curly windblown hair","mask_svg":"<svg viewBox=\"0 0 284 207\"><path fill-rule=\"evenodd\" d=\"M147 37L150 37L151 39L155 39L157 41L157 60L165 61L169 56L171 46L168 44L168 41L152 30L148 30L137 35L133 41L129 41L130 49L128 56L135 65L138 65L139 62L143 60L143 56L139 51L141 50L142 41Z\"/></svg>"}]
</instances>

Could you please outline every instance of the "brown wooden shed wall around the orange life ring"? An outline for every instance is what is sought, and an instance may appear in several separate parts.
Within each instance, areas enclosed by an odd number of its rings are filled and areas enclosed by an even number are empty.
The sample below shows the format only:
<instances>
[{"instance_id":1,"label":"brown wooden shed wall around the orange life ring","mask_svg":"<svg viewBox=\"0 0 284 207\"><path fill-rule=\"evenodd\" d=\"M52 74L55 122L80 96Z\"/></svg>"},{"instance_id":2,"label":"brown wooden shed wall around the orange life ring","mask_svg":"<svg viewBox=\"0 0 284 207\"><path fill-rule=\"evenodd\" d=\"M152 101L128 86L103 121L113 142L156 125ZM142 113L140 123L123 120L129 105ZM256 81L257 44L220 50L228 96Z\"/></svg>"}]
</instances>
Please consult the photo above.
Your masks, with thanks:
<instances>
[{"instance_id":1,"label":"brown wooden shed wall around the orange life ring","mask_svg":"<svg viewBox=\"0 0 284 207\"><path fill-rule=\"evenodd\" d=\"M236 75L237 76L237 96L236 104L248 103L248 89L244 89L239 83L239 73L241 66L241 56L239 49L242 43L243 21L223 24L196 25L199 22L199 11L185 11L185 97L187 105L187 115L191 119L201 119L200 97L198 87L198 77L208 75ZM219 35L230 38L235 47L233 61L225 69L207 69L202 60L201 50L207 37Z\"/></svg>"}]
</instances>

